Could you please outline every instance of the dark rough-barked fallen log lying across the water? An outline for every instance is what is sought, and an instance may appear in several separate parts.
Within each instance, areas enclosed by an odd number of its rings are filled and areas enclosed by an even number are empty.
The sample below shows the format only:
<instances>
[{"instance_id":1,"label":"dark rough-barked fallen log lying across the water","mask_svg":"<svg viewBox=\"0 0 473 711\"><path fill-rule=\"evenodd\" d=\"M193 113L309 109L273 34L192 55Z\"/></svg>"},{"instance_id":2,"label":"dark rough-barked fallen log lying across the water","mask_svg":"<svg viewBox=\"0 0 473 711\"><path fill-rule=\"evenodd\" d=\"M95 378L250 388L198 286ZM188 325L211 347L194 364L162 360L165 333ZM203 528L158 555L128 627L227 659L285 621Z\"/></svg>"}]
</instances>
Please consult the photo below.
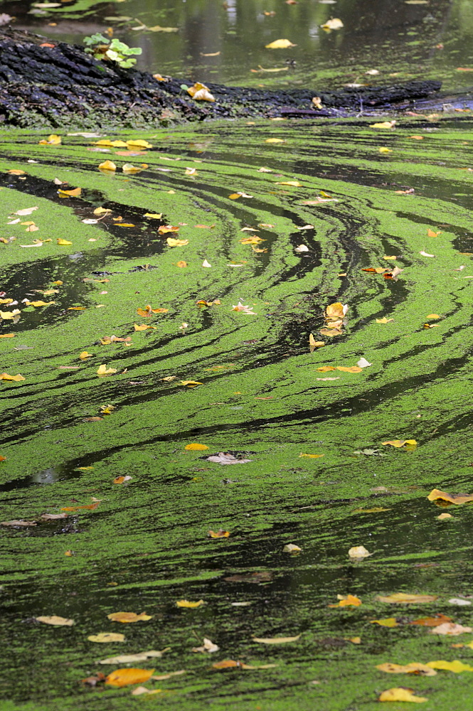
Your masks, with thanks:
<instances>
[{"instance_id":1,"label":"dark rough-barked fallen log lying across the water","mask_svg":"<svg viewBox=\"0 0 473 711\"><path fill-rule=\"evenodd\" d=\"M155 127L241 117L346 116L415 110L441 82L385 87L261 90L208 84L215 102L193 100L181 80L122 69L83 48L8 28L0 34L0 123L16 127ZM188 85L193 82L188 82ZM314 107L319 97L321 109Z\"/></svg>"}]
</instances>

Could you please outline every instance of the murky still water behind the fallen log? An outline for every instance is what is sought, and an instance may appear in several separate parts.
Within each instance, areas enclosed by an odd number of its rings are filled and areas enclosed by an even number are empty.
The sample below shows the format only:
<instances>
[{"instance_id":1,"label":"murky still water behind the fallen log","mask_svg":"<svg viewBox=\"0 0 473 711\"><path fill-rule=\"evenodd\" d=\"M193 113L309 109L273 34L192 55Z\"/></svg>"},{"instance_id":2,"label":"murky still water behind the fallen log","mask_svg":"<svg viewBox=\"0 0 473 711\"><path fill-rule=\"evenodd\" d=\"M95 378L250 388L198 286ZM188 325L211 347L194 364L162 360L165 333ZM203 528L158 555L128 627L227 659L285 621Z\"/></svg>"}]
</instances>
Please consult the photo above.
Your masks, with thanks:
<instances>
[{"instance_id":1,"label":"murky still water behind the fallen log","mask_svg":"<svg viewBox=\"0 0 473 711\"><path fill-rule=\"evenodd\" d=\"M2 6L16 16L16 27L68 42L81 44L111 27L142 48L139 68L210 82L331 87L387 83L395 75L397 81L442 79L450 90L467 85L471 74L464 69L473 67L468 0L11 0ZM340 18L343 27L325 31L329 18ZM167 31L147 29L156 26ZM265 48L281 38L296 46ZM371 70L379 74L365 74Z\"/></svg>"}]
</instances>

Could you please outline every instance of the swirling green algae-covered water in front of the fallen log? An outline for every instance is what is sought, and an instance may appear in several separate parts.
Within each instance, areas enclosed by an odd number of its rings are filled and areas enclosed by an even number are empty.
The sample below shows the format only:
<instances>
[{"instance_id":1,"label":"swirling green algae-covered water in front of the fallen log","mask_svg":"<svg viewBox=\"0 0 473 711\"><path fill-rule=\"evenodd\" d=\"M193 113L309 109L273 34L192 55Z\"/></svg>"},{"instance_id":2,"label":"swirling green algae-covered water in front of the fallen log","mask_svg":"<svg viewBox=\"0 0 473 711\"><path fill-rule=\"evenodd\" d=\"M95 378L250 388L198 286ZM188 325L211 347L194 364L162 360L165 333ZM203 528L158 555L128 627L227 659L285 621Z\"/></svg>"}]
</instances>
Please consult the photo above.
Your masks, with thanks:
<instances>
[{"instance_id":1,"label":"swirling green algae-covered water in front of the fallen log","mask_svg":"<svg viewBox=\"0 0 473 711\"><path fill-rule=\"evenodd\" d=\"M1 520L30 524L1 527L1 708L374 711L409 686L463 711L468 671L376 665L472 660L471 634L411 624L472 622L449 602L470 602L472 509L427 500L473 491L469 120L41 138L0 144L0 370L24 378L0 381ZM130 665L159 693L81 682Z\"/></svg>"}]
</instances>

